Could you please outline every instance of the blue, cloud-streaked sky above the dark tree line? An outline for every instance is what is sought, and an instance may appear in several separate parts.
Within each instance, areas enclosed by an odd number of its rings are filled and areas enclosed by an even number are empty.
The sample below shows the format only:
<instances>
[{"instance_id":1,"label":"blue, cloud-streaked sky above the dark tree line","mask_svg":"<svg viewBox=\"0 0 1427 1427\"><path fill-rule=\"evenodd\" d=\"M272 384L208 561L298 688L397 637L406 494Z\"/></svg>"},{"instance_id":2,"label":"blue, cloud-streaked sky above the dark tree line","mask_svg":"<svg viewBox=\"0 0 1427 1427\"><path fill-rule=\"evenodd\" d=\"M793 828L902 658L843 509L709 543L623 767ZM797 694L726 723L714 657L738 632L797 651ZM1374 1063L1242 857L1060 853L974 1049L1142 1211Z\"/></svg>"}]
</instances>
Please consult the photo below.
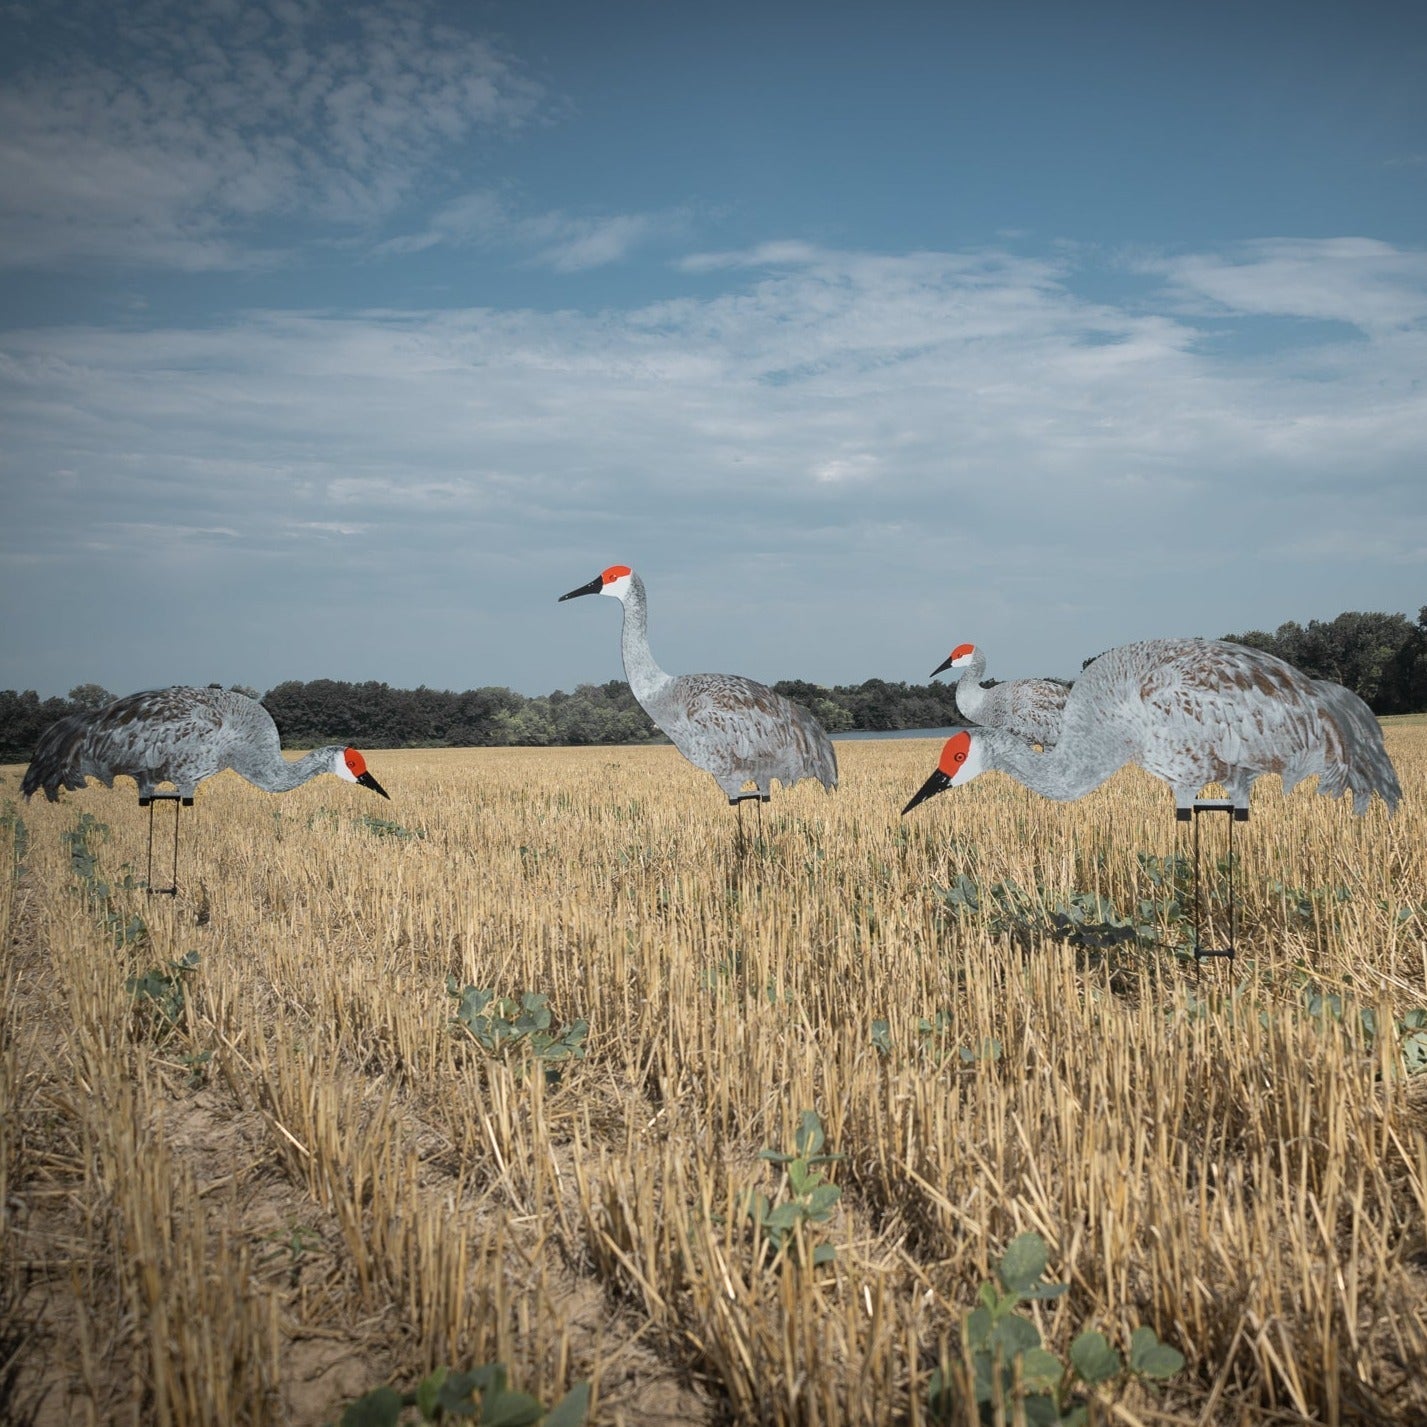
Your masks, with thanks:
<instances>
[{"instance_id":1,"label":"blue, cloud-streaked sky above the dark tree line","mask_svg":"<svg viewBox=\"0 0 1427 1427\"><path fill-rule=\"evenodd\" d=\"M1427 604L1420 4L0 0L0 688Z\"/></svg>"}]
</instances>

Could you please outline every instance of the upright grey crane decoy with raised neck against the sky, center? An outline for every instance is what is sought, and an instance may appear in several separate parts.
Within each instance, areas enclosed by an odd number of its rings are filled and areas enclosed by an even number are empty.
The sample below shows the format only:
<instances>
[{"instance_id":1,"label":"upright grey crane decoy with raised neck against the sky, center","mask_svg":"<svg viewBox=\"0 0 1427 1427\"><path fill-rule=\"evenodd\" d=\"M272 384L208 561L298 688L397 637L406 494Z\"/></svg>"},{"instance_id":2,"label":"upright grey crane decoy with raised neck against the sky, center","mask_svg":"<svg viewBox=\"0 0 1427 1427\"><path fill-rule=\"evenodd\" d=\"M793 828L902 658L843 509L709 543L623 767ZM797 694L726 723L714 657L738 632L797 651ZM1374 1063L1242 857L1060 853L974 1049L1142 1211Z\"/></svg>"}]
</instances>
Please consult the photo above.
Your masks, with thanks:
<instances>
[{"instance_id":1,"label":"upright grey crane decoy with raised neck against the sky, center","mask_svg":"<svg viewBox=\"0 0 1427 1427\"><path fill-rule=\"evenodd\" d=\"M588 585L561 595L612 595L624 606L621 652L639 706L695 768L714 775L728 801L769 801L772 781L801 778L838 786L838 755L822 725L768 685L736 674L665 674L649 651L644 581L628 565L611 565ZM755 792L743 792L752 782Z\"/></svg>"}]
</instances>

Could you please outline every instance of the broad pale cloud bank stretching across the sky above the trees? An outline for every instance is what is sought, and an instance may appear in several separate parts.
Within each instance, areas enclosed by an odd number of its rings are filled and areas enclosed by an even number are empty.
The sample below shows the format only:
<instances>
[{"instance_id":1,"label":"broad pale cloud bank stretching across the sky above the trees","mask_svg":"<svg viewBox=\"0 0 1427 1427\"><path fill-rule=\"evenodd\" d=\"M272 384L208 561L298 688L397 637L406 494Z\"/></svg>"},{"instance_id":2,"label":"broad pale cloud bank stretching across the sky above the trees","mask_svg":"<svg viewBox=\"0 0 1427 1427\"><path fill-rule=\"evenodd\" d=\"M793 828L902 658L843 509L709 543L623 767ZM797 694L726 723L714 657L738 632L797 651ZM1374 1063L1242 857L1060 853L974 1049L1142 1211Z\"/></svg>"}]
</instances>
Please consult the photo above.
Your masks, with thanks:
<instances>
[{"instance_id":1,"label":"broad pale cloud bank stretching across the sky above the trees","mask_svg":"<svg viewBox=\"0 0 1427 1427\"><path fill-rule=\"evenodd\" d=\"M87 591L137 626L168 571L195 618L221 596L213 621L241 606L284 638L323 635L321 658L281 676L335 672L323 609L341 595L390 661L362 676L531 691L616 672L612 629L592 644L584 618L551 614L616 559L658 585L668 666L765 678L918 678L953 618L1007 674L1073 674L1150 634L1414 611L1427 332L1373 314L1386 287L1418 301L1427 277L1413 253L1354 251L1356 331L1232 355L1184 301L1183 273L1233 265L1214 254L1112 303L1079 294L1069 257L808 245L729 263L715 295L628 311L11 332L0 555L16 571L16 552L44 557L13 577L33 608ZM1297 248L1273 310L1343 260ZM203 549L194 581L177 549L121 529L146 522L234 534L180 542ZM100 537L107 572L74 558ZM776 606L745 608L771 589ZM471 672L451 611L492 622L501 662ZM257 634L247 656L231 678L280 676Z\"/></svg>"}]
</instances>

